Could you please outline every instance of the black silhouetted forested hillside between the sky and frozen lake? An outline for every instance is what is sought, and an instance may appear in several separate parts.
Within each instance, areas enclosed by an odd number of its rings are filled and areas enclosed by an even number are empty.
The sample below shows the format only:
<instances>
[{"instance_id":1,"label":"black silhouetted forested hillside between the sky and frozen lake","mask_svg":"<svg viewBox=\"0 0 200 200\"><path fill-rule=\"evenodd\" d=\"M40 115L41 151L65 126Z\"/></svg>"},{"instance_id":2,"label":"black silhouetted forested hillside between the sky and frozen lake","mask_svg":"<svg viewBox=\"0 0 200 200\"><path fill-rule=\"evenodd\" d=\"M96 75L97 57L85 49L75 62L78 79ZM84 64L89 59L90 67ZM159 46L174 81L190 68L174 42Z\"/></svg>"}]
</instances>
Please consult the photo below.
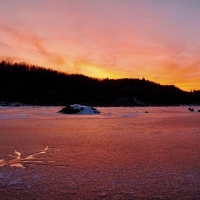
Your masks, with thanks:
<instances>
[{"instance_id":1,"label":"black silhouetted forested hillside between the sky and frozen lake","mask_svg":"<svg viewBox=\"0 0 200 200\"><path fill-rule=\"evenodd\" d=\"M200 91L185 92L174 85L160 85L144 78L101 80L2 60L0 102L95 106L200 104Z\"/></svg>"}]
</instances>

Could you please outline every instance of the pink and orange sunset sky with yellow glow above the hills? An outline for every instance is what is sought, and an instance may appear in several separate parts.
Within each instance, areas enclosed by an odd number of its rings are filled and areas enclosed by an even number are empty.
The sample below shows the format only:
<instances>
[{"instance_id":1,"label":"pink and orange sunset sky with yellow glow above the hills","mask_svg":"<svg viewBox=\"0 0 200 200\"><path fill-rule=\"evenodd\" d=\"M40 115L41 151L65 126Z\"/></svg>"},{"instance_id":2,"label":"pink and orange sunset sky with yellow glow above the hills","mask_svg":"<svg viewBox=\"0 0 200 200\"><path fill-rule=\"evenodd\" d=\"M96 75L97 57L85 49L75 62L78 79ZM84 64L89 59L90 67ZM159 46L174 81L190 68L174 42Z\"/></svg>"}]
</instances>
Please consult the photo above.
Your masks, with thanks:
<instances>
[{"instance_id":1,"label":"pink and orange sunset sky with yellow glow above the hills","mask_svg":"<svg viewBox=\"0 0 200 200\"><path fill-rule=\"evenodd\" d=\"M0 0L0 58L200 90L200 0Z\"/></svg>"}]
</instances>

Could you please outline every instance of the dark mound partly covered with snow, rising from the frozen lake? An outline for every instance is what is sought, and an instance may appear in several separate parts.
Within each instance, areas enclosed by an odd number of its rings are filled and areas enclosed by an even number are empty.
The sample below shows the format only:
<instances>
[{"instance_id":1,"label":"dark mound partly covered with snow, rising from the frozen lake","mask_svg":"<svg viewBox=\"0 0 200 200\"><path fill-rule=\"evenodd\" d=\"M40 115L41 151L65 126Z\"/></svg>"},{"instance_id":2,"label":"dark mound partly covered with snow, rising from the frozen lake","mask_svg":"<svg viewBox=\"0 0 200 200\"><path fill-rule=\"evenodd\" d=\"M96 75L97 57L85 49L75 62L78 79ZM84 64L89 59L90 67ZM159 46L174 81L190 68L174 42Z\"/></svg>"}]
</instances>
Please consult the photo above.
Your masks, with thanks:
<instances>
[{"instance_id":1,"label":"dark mound partly covered with snow, rising from the frozen lake","mask_svg":"<svg viewBox=\"0 0 200 200\"><path fill-rule=\"evenodd\" d=\"M96 108L91 106L83 106L80 104L73 104L66 106L65 108L59 111L64 114L98 114L100 113Z\"/></svg>"}]
</instances>

